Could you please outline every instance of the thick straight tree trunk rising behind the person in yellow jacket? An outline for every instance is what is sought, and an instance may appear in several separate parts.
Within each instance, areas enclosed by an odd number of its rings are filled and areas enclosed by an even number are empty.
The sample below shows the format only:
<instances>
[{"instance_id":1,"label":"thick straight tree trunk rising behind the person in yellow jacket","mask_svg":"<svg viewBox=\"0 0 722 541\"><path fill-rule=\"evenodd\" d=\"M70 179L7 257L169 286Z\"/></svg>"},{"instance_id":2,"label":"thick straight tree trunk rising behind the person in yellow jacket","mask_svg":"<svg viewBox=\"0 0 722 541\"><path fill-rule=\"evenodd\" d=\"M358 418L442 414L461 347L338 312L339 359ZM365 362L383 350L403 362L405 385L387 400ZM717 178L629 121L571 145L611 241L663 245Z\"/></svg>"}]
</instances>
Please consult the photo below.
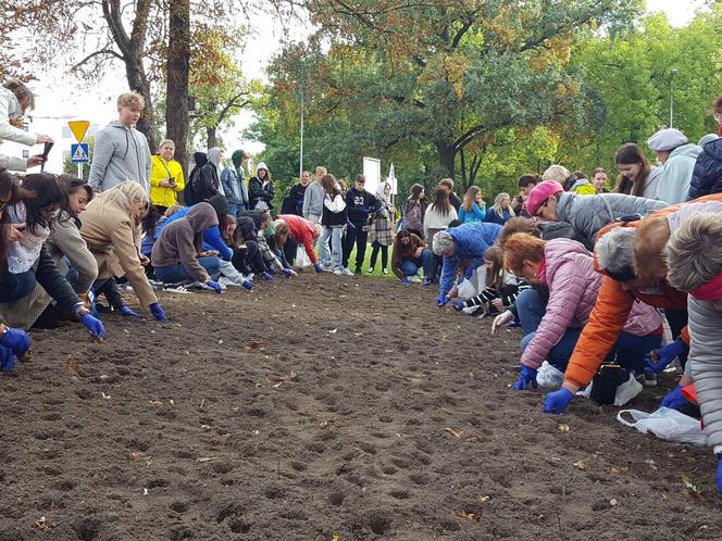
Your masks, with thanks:
<instances>
[{"instance_id":1,"label":"thick straight tree trunk rising behind the person in yellow jacket","mask_svg":"<svg viewBox=\"0 0 722 541\"><path fill-rule=\"evenodd\" d=\"M165 125L175 142L175 159L188 178L188 74L190 72L190 0L170 2Z\"/></svg>"}]
</instances>

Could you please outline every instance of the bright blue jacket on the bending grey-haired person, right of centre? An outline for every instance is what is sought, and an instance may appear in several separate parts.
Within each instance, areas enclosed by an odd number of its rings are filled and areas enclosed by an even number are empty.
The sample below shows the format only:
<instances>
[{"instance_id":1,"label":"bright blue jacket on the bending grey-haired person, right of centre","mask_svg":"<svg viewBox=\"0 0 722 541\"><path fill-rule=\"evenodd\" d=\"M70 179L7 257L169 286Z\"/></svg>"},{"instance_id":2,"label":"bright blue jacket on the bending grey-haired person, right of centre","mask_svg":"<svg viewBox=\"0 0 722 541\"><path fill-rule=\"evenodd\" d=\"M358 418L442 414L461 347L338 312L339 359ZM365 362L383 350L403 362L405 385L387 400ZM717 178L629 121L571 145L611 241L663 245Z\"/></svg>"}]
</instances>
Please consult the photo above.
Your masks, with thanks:
<instances>
[{"instance_id":1,"label":"bright blue jacket on the bending grey-haired person, right of centre","mask_svg":"<svg viewBox=\"0 0 722 541\"><path fill-rule=\"evenodd\" d=\"M474 222L473 224L452 227L447 232L451 235L457 249L453 255L444 256L441 282L439 285L439 294L443 295L447 294L453 286L459 261L471 260L472 268L480 266L484 262L484 252L496 242L499 232L501 232L501 226L499 224Z\"/></svg>"}]
</instances>

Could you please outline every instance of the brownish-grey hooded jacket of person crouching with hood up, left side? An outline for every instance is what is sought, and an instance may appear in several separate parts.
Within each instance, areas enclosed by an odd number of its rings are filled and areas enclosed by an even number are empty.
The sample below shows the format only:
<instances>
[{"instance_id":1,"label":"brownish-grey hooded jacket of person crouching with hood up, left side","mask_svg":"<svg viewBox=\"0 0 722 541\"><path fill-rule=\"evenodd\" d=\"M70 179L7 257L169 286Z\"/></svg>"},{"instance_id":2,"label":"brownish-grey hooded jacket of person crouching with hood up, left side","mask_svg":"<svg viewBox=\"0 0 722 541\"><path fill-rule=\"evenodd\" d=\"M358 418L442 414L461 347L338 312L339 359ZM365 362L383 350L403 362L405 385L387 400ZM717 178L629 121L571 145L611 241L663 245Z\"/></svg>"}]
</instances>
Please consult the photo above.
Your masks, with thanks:
<instances>
[{"instance_id":1,"label":"brownish-grey hooded jacket of person crouching with hood up, left side","mask_svg":"<svg viewBox=\"0 0 722 541\"><path fill-rule=\"evenodd\" d=\"M167 267L182 263L190 276L207 282L210 278L198 263L196 235L217 226L219 218L209 203L198 203L183 218L167 225L153 246L150 261L154 267Z\"/></svg>"}]
</instances>

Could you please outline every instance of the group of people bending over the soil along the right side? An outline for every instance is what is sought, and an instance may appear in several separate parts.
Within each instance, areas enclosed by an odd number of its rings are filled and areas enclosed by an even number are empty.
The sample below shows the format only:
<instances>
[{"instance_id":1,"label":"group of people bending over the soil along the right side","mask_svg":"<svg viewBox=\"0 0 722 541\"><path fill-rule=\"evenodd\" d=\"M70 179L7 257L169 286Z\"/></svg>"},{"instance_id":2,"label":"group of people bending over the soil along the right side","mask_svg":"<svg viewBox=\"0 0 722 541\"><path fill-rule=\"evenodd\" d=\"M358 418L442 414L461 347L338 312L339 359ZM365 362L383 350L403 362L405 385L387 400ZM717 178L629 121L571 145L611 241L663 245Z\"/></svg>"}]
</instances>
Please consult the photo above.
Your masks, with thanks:
<instances>
[{"instance_id":1,"label":"group of people bending over the soil along the right side","mask_svg":"<svg viewBox=\"0 0 722 541\"><path fill-rule=\"evenodd\" d=\"M668 205L545 181L526 209L532 218L503 227L462 224L434 235L443 257L436 305L464 290L455 307L498 314L493 332L521 326L512 387L559 387L546 395L546 413L562 414L590 383L592 398L614 403L624 383L653 380L679 360L684 375L661 405L701 414L722 493L722 194ZM419 242L409 243L424 249ZM662 313L673 336L663 347Z\"/></svg>"}]
</instances>

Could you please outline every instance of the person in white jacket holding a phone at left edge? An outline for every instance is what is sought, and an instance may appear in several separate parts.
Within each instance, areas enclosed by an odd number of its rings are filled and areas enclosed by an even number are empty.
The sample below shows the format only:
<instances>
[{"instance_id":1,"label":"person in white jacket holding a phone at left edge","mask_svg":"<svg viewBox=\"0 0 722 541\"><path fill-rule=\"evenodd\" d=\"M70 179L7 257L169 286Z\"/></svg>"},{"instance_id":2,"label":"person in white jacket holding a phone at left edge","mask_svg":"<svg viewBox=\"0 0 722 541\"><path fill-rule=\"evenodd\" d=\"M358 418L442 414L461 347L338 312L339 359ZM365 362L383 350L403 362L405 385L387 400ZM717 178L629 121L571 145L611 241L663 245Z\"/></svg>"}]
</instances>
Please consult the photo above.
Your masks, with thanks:
<instances>
[{"instance_id":1,"label":"person in white jacket holding a phone at left edge","mask_svg":"<svg viewBox=\"0 0 722 541\"><path fill-rule=\"evenodd\" d=\"M32 147L39 142L51 143L52 138L42 134L30 134L22 129L22 116L28 109L35 109L35 96L20 80L10 79L0 87L0 142L20 142ZM0 154L0 167L10 171L27 171L43 163L47 155L33 155L28 159Z\"/></svg>"}]
</instances>

